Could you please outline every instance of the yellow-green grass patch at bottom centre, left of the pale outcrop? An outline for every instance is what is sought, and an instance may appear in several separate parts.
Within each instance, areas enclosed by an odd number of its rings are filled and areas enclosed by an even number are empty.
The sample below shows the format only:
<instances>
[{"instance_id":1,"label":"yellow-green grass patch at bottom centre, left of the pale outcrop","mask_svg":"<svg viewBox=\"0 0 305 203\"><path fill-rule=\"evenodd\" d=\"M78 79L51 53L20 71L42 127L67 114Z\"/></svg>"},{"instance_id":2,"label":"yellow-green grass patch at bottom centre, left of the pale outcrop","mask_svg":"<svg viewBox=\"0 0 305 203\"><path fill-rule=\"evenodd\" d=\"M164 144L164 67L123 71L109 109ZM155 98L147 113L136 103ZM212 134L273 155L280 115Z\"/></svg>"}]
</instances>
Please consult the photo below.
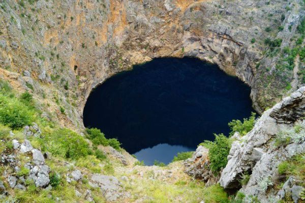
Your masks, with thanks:
<instances>
[{"instance_id":1,"label":"yellow-green grass patch at bottom centre, left of the pale outcrop","mask_svg":"<svg viewBox=\"0 0 305 203\"><path fill-rule=\"evenodd\" d=\"M227 202L227 193L219 186L205 188L200 181L191 179L179 180L168 184L160 180L135 179L133 184L125 183L125 188L133 194L135 199L147 196L141 202ZM134 200L135 200L134 199Z\"/></svg>"}]
</instances>

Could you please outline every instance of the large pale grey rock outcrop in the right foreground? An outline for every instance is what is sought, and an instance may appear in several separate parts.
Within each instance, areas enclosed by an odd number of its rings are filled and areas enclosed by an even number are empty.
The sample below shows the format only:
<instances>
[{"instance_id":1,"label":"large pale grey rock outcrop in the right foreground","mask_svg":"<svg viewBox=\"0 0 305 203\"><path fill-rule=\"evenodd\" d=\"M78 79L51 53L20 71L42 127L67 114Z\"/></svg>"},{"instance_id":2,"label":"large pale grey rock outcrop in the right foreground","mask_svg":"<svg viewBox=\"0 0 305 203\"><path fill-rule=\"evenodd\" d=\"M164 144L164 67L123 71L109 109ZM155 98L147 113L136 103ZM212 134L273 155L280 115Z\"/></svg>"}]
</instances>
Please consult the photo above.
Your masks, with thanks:
<instances>
[{"instance_id":1,"label":"large pale grey rock outcrop in the right foreground","mask_svg":"<svg viewBox=\"0 0 305 203\"><path fill-rule=\"evenodd\" d=\"M266 194L265 190L260 188L259 182L263 179L278 181L279 163L305 151L303 139L279 147L275 146L274 139L281 129L291 128L290 124L303 117L304 102L305 87L302 87L265 111L247 135L237 137L232 144L228 164L221 173L220 185L225 189L237 189L240 187L240 175L249 172L250 180L241 188L242 192L258 196L261 201L267 201L267 196L276 196L277 191L269 191L269 194Z\"/></svg>"}]
</instances>

